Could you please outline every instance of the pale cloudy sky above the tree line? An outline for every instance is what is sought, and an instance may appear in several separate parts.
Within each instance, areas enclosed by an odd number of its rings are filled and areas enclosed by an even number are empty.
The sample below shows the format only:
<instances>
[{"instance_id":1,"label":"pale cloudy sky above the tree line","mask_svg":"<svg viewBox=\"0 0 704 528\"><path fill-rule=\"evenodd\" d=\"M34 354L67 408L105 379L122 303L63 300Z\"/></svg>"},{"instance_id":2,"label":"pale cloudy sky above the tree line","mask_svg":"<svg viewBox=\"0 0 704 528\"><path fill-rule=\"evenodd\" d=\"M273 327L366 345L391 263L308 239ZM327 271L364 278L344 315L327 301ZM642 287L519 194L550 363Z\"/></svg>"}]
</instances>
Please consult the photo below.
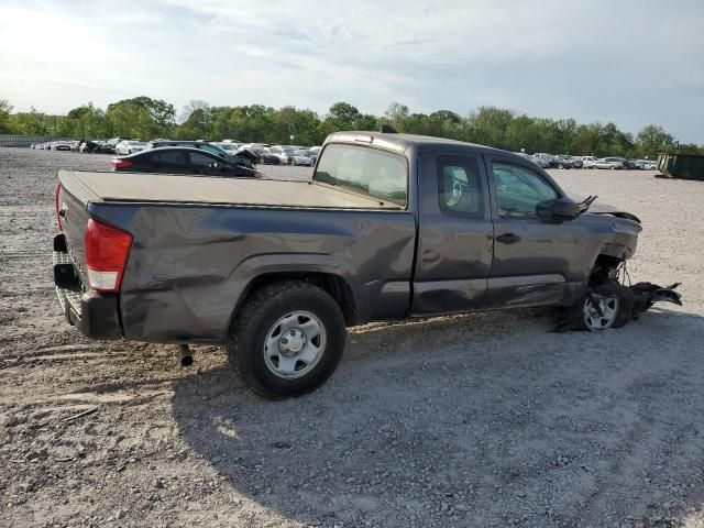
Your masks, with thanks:
<instances>
[{"instance_id":1,"label":"pale cloudy sky above the tree line","mask_svg":"<svg viewBox=\"0 0 704 528\"><path fill-rule=\"evenodd\" d=\"M0 0L0 98L482 105L704 143L702 0Z\"/></svg>"}]
</instances>

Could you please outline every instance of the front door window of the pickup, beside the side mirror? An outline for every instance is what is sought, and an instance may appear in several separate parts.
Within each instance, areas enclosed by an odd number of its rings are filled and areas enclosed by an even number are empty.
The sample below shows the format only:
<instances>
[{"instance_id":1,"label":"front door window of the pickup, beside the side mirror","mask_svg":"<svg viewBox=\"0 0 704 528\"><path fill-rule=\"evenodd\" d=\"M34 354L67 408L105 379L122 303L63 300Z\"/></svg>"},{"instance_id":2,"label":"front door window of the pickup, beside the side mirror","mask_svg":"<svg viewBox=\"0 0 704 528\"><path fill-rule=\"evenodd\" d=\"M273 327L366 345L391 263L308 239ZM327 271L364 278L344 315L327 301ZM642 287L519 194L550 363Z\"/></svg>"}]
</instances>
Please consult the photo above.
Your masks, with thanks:
<instances>
[{"instance_id":1,"label":"front door window of the pickup, beside the side mirror","mask_svg":"<svg viewBox=\"0 0 704 528\"><path fill-rule=\"evenodd\" d=\"M502 218L536 218L538 204L558 198L558 191L529 168L494 162L492 173L498 216Z\"/></svg>"}]
</instances>

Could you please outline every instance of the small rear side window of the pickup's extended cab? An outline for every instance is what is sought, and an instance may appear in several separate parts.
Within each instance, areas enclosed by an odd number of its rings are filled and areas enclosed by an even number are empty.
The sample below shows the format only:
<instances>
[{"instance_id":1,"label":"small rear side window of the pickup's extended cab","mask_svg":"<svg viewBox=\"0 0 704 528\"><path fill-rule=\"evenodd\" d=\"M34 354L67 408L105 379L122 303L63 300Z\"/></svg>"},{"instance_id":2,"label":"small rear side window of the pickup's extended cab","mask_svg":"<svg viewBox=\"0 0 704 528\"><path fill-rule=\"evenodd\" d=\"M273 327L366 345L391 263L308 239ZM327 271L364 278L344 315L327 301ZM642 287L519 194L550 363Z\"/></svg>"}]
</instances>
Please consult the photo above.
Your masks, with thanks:
<instances>
[{"instance_id":1,"label":"small rear side window of the pickup's extended cab","mask_svg":"<svg viewBox=\"0 0 704 528\"><path fill-rule=\"evenodd\" d=\"M484 217L484 194L480 165L471 156L438 157L440 209L449 215Z\"/></svg>"}]
</instances>

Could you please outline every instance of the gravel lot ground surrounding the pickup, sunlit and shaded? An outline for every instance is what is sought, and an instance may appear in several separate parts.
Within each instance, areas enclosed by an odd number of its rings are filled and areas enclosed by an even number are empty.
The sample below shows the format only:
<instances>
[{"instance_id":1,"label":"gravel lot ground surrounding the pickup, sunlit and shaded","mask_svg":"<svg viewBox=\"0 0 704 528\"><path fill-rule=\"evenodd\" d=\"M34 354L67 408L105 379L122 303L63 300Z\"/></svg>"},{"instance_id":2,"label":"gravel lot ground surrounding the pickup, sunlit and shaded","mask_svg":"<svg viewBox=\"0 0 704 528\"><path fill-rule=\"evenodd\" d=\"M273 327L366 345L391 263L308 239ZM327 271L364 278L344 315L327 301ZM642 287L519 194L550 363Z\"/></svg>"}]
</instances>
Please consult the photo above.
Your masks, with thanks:
<instances>
[{"instance_id":1,"label":"gravel lot ground surrounding the pickup, sunlit and shaded","mask_svg":"<svg viewBox=\"0 0 704 528\"><path fill-rule=\"evenodd\" d=\"M327 385L271 403L218 348L180 369L64 322L56 170L108 161L0 148L0 526L704 526L704 184L554 173L642 219L631 277L682 280L683 308L361 327Z\"/></svg>"}]
</instances>

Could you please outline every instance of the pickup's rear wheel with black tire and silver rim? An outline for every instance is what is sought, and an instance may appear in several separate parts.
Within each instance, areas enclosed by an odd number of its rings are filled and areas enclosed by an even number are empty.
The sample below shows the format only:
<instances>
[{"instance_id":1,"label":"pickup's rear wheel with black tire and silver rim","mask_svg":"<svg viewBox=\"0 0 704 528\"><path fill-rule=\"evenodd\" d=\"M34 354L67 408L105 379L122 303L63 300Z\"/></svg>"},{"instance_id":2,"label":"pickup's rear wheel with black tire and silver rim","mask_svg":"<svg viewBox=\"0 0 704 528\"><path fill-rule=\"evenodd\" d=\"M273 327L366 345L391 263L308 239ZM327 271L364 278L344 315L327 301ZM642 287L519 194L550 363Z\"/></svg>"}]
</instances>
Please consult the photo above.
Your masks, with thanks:
<instances>
[{"instance_id":1,"label":"pickup's rear wheel with black tire and silver rim","mask_svg":"<svg viewBox=\"0 0 704 528\"><path fill-rule=\"evenodd\" d=\"M308 394L334 372L345 342L342 310L323 289L304 280L254 293L230 331L228 356L260 396Z\"/></svg>"}]
</instances>

